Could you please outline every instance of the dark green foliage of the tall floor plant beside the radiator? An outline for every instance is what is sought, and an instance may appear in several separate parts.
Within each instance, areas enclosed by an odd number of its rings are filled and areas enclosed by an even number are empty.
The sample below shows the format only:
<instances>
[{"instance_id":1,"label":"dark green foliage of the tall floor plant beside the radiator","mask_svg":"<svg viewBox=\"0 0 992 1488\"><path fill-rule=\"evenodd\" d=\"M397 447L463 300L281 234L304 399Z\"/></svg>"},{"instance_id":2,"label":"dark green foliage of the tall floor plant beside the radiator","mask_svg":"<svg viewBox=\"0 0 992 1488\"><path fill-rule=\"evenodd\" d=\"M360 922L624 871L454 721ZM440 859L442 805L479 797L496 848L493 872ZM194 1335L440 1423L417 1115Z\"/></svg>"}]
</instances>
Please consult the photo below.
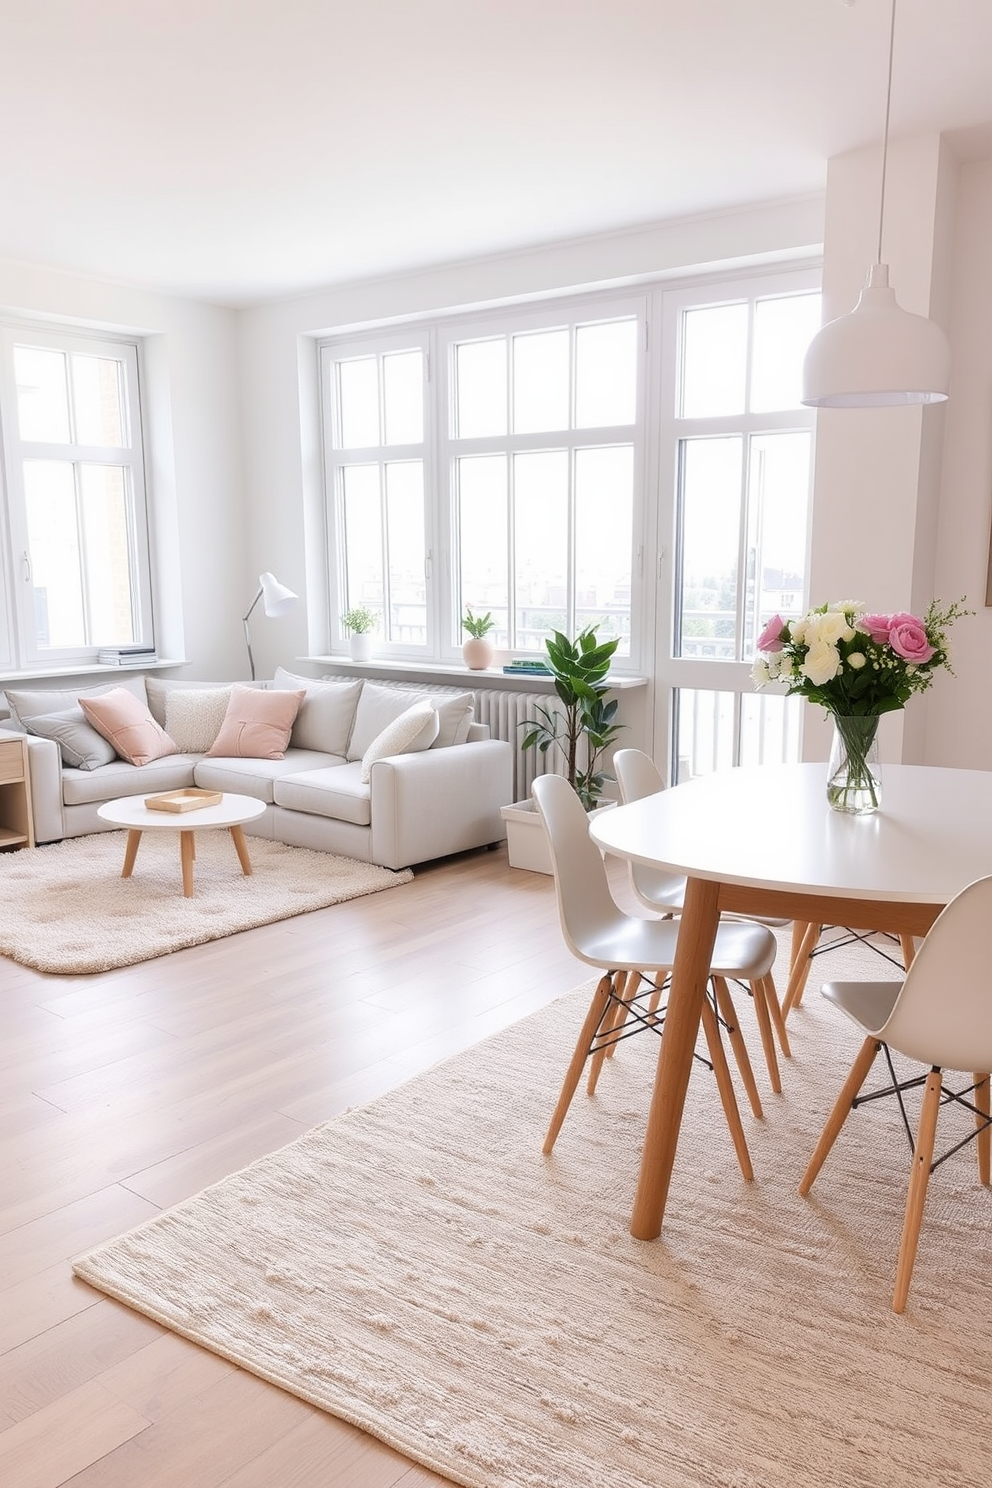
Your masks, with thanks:
<instances>
[{"instance_id":1,"label":"dark green foliage of the tall floor plant beside the radiator","mask_svg":"<svg viewBox=\"0 0 992 1488\"><path fill-rule=\"evenodd\" d=\"M537 748L541 754L547 754L549 748L561 751L568 784L586 811L598 805L602 787L614 778L599 769L599 760L626 728L616 722L619 702L616 698L607 701L610 687L604 682L619 644L619 637L598 641L595 625L574 641L555 631L544 647L562 707L538 707L537 722L521 725L528 731L521 748Z\"/></svg>"}]
</instances>

